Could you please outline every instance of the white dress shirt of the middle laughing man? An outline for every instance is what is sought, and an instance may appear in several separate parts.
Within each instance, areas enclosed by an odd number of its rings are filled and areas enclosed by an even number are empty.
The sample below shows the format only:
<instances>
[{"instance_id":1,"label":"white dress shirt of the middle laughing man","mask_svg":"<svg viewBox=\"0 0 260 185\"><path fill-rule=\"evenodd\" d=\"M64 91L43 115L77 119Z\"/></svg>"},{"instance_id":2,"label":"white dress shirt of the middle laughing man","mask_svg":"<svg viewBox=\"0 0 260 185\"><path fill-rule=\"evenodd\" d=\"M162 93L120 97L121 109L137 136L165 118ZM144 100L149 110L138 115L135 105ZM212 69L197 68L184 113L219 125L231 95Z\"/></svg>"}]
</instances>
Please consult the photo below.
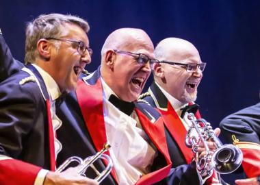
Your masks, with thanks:
<instances>
[{"instance_id":1,"label":"white dress shirt of the middle laughing man","mask_svg":"<svg viewBox=\"0 0 260 185\"><path fill-rule=\"evenodd\" d=\"M110 101L115 93L101 79L103 86L103 111L107 142L118 184L135 184L140 177L150 172L156 151L148 144L149 138L142 128L135 112L128 116Z\"/></svg>"}]
</instances>

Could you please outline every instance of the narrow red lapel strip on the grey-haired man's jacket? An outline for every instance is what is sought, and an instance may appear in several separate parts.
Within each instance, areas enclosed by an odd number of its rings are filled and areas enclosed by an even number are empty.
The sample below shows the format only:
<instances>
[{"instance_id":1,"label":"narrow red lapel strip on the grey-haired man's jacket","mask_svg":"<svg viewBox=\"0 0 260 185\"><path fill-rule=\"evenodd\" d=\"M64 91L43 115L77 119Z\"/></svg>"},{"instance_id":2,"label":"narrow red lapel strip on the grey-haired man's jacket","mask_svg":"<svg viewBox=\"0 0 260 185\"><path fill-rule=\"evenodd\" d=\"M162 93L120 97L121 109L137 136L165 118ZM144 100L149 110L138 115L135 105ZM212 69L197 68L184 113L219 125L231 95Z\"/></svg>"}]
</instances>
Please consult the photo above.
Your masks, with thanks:
<instances>
[{"instance_id":1,"label":"narrow red lapel strip on the grey-haired man's jacket","mask_svg":"<svg viewBox=\"0 0 260 185\"><path fill-rule=\"evenodd\" d=\"M50 164L51 171L55 171L56 162L55 162L55 147L54 147L54 133L53 133L53 124L51 119L51 102L49 99L46 100L47 106L47 117L48 117L48 129L49 129L49 149L50 149Z\"/></svg>"}]
</instances>

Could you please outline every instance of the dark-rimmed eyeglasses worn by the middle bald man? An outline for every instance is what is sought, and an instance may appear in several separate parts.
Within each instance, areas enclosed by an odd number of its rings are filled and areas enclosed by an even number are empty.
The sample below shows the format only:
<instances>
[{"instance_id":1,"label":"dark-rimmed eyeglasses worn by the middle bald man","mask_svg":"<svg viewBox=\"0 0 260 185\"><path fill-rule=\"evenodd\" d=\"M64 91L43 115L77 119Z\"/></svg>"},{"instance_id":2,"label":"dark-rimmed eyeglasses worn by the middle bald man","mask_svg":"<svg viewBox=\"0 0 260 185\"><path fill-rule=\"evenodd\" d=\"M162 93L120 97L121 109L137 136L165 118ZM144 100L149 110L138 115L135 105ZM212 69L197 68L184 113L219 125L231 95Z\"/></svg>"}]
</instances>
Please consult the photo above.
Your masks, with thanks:
<instances>
[{"instance_id":1,"label":"dark-rimmed eyeglasses worn by the middle bald man","mask_svg":"<svg viewBox=\"0 0 260 185\"><path fill-rule=\"evenodd\" d=\"M130 51L121 51L121 50L116 50L116 49L114 49L114 52L132 56L133 58L136 59L138 64L146 64L147 62L150 62L150 64L153 64L155 62L159 62L159 60L154 59L154 58L149 58L148 56L146 56L142 53L132 53Z\"/></svg>"}]
</instances>

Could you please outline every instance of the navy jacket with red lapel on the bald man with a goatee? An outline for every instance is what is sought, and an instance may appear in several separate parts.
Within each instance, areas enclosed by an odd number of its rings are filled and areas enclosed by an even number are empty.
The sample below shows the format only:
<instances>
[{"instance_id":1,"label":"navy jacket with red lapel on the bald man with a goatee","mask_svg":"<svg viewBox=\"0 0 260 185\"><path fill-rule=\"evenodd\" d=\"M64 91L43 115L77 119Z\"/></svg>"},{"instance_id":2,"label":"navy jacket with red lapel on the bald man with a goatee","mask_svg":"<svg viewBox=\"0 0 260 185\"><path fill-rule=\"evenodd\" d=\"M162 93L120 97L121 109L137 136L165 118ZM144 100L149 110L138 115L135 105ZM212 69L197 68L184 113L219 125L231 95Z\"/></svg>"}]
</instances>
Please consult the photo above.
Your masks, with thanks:
<instances>
[{"instance_id":1,"label":"navy jacket with red lapel on the bald man with a goatee","mask_svg":"<svg viewBox=\"0 0 260 185\"><path fill-rule=\"evenodd\" d=\"M168 150L170 151L172 167L175 169L186 169L186 172L190 171L190 173L194 174L190 177L192 184L199 184L198 174L196 173L194 164L195 162L192 162L192 150L185 145L187 131L185 130L181 119L179 119L177 112L172 108L170 102L168 102L168 99L155 82L148 88L147 93L141 95L141 99L149 103L153 108L157 108L164 118L166 140ZM200 117L199 112L196 113L196 117ZM183 171L180 171L179 173L180 175L183 175L183 177L186 176ZM211 179L207 180L207 184L211 184Z\"/></svg>"}]
</instances>

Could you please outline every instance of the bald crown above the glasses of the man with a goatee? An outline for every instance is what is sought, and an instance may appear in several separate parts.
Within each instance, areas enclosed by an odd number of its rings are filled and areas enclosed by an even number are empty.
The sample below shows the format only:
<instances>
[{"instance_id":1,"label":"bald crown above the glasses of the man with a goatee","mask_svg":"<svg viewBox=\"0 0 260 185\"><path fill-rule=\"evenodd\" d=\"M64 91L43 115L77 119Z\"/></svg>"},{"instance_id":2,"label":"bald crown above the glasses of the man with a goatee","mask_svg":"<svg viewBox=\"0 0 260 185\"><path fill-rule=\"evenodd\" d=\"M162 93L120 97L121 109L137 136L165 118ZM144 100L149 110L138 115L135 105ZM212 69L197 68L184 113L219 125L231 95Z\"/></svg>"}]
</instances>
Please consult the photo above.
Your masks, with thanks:
<instances>
[{"instance_id":1,"label":"bald crown above the glasses of the man with a goatee","mask_svg":"<svg viewBox=\"0 0 260 185\"><path fill-rule=\"evenodd\" d=\"M166 38L155 48L155 58L178 62L190 56L199 56L198 50L191 42L181 38Z\"/></svg>"}]
</instances>

